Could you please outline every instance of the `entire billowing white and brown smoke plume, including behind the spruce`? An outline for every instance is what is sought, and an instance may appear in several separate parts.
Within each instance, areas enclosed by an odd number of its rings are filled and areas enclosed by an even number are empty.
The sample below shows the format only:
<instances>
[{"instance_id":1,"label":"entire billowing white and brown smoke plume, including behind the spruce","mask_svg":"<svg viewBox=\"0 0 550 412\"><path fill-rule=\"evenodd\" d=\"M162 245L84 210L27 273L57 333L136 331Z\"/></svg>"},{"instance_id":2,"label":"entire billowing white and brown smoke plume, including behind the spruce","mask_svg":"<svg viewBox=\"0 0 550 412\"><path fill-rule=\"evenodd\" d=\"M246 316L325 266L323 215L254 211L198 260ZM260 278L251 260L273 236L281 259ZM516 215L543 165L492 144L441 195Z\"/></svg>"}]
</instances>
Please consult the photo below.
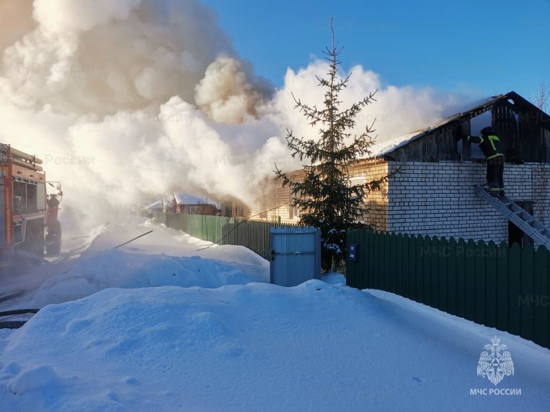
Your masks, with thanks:
<instances>
[{"instance_id":1,"label":"entire billowing white and brown smoke plume, including behind the spruce","mask_svg":"<svg viewBox=\"0 0 550 412\"><path fill-rule=\"evenodd\" d=\"M320 106L326 62L288 69L274 90L198 0L0 0L0 56L0 141L42 157L65 209L87 217L172 190L254 203L274 162L300 165L286 128L318 135L290 93ZM352 71L344 104L379 89L358 117L361 127L377 118L379 139L455 104Z\"/></svg>"}]
</instances>

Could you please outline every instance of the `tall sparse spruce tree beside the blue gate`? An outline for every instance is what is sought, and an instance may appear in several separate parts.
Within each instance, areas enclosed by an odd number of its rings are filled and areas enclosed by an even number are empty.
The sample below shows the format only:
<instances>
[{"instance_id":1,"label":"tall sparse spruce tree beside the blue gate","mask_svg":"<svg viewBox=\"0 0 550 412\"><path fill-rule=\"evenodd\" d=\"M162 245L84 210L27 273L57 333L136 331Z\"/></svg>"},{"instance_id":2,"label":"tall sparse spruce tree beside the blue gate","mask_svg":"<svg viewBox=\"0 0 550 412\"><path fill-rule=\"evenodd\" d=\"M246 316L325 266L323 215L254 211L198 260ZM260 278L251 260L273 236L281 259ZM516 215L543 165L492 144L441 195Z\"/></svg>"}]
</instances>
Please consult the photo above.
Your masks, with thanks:
<instances>
[{"instance_id":1,"label":"tall sparse spruce tree beside the blue gate","mask_svg":"<svg viewBox=\"0 0 550 412\"><path fill-rule=\"evenodd\" d=\"M308 106L296 100L295 108L308 119L312 127L318 126L319 139L296 137L287 129L287 146L292 157L300 161L309 160L303 166L303 181L292 181L275 165L276 174L283 179L283 186L289 186L293 196L292 205L300 209L300 225L321 229L322 268L325 271L338 270L346 256L347 229L372 229L362 218L366 209L364 198L369 192L380 190L388 176L351 185L349 167L371 155L369 148L373 144L371 133L373 125L367 125L360 135L353 135L355 117L367 104L375 102L372 92L352 104L347 110L340 111L339 94L347 87L347 78L338 77L341 62L338 56L342 49L334 42L334 30L331 21L332 46L323 52L330 62L328 78L319 78L318 85L326 89L324 107Z\"/></svg>"}]
</instances>

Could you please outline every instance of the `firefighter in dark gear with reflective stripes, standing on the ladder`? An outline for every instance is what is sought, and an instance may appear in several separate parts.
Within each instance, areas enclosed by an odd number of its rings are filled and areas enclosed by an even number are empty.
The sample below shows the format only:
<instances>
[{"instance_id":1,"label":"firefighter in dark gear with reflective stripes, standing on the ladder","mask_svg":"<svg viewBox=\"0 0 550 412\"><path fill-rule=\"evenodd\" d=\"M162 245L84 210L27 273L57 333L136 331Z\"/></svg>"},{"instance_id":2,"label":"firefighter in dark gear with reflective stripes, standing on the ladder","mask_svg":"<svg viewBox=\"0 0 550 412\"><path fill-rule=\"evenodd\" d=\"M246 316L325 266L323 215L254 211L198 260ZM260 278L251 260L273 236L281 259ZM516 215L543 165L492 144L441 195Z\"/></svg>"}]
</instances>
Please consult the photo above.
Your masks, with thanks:
<instances>
[{"instance_id":1,"label":"firefighter in dark gear with reflective stripes, standing on the ladder","mask_svg":"<svg viewBox=\"0 0 550 412\"><path fill-rule=\"evenodd\" d=\"M492 196L504 196L504 155L500 139L491 126L481 129L481 136L468 136L467 141L476 143L487 159L487 185Z\"/></svg>"}]
</instances>

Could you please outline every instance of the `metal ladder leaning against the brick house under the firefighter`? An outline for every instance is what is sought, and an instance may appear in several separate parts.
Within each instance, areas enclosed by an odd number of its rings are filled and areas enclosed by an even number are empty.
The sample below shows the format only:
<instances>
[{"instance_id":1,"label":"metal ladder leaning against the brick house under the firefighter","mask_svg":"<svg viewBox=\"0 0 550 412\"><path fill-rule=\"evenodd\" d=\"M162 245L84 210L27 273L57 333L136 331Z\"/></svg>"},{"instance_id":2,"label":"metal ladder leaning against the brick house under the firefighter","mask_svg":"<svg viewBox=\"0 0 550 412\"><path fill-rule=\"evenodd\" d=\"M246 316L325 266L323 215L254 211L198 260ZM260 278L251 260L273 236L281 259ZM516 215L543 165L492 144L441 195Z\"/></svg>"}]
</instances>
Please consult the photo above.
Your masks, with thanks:
<instances>
[{"instance_id":1,"label":"metal ladder leaning against the brick house under the firefighter","mask_svg":"<svg viewBox=\"0 0 550 412\"><path fill-rule=\"evenodd\" d=\"M487 190L480 185L476 185L476 190L479 196L485 198L495 209L498 209L505 218L519 227L523 233L527 234L538 244L544 244L550 250L550 230L542 225L541 222L533 218L524 209L519 207L514 201L511 201L506 196L500 198L492 196Z\"/></svg>"}]
</instances>

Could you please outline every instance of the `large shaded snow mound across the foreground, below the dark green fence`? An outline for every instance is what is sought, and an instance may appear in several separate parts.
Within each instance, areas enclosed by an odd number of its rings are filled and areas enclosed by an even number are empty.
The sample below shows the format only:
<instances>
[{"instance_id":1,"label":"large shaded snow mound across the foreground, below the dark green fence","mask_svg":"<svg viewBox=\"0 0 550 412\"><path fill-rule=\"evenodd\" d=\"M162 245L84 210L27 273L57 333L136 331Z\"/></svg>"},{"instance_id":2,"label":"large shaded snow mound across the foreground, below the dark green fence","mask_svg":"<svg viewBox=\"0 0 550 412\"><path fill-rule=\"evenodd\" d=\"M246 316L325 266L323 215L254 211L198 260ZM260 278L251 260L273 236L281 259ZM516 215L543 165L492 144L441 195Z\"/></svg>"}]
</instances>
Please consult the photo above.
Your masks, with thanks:
<instances>
[{"instance_id":1,"label":"large shaded snow mound across the foreground, below the dark green fence","mask_svg":"<svg viewBox=\"0 0 550 412\"><path fill-rule=\"evenodd\" d=\"M476 376L492 331L309 281L107 289L2 332L8 411L543 410L549 351L507 334L521 396ZM404 307L401 307L403 305ZM546 396L546 397L545 397Z\"/></svg>"}]
</instances>

